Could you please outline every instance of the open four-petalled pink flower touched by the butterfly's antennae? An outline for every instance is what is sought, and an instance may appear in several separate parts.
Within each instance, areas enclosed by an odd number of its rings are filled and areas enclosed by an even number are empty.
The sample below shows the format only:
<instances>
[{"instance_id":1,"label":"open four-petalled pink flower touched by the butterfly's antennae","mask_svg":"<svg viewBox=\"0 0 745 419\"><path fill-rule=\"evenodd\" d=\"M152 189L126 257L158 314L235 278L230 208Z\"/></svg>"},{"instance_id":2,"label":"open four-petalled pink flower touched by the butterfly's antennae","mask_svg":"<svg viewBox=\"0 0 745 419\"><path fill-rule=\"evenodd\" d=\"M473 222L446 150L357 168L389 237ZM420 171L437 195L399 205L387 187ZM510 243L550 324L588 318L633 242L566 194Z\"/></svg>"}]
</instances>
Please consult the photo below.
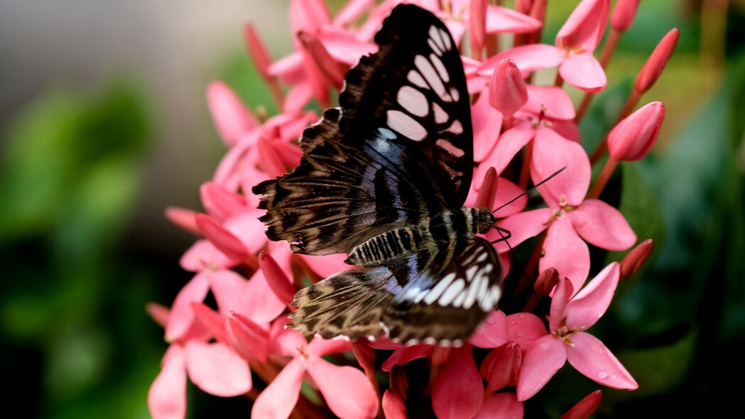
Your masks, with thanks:
<instances>
[{"instance_id":1,"label":"open four-petalled pink flower touched by the butterfly's antennae","mask_svg":"<svg viewBox=\"0 0 745 419\"><path fill-rule=\"evenodd\" d=\"M513 233L512 246L548 228L539 271L556 268L561 277L571 280L576 292L590 270L589 248L583 239L599 248L621 251L636 242L636 235L618 209L597 199L585 199L590 163L580 145L545 128L538 130L535 142L530 166L534 183L559 168L566 169L539 187L548 208L511 215L498 224ZM490 232L487 238L498 236ZM496 247L499 252L508 250L504 243L497 243Z\"/></svg>"}]
</instances>

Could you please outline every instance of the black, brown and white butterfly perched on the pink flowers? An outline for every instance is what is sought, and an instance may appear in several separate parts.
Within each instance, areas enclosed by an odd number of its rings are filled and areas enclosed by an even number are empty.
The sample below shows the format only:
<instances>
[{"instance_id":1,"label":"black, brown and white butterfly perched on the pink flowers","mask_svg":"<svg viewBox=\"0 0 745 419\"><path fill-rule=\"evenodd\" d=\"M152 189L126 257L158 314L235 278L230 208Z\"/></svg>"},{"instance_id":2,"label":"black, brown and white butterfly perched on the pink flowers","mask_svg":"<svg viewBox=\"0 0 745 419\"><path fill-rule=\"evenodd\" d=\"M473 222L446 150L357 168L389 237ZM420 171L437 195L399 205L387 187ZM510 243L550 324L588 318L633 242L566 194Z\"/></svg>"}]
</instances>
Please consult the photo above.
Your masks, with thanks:
<instances>
[{"instance_id":1,"label":"black, brown and white butterfly perched on the pink flowers","mask_svg":"<svg viewBox=\"0 0 745 419\"><path fill-rule=\"evenodd\" d=\"M308 127L289 174L253 188L267 236L361 268L300 290L291 327L323 338L460 344L501 296L497 253L463 207L473 173L469 94L446 26L393 9L377 53L346 74L340 107Z\"/></svg>"}]
</instances>

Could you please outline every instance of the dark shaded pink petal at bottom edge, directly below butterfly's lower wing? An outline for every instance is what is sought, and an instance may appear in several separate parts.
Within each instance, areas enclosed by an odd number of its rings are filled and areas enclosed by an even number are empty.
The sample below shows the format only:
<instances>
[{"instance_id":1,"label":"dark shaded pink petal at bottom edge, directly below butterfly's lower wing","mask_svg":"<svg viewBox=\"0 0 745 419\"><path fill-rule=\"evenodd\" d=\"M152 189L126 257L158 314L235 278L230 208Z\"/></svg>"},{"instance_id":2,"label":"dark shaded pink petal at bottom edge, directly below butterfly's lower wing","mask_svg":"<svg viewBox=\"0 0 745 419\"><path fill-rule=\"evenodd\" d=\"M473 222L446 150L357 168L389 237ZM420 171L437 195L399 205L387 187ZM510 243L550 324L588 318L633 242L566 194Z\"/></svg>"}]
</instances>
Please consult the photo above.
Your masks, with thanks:
<instances>
[{"instance_id":1,"label":"dark shaded pink petal at bottom edge, directly below butterfly's lower wing","mask_svg":"<svg viewBox=\"0 0 745 419\"><path fill-rule=\"evenodd\" d=\"M473 418L483 403L484 384L470 347L452 350L437 374L432 389L432 409L440 419Z\"/></svg>"}]
</instances>

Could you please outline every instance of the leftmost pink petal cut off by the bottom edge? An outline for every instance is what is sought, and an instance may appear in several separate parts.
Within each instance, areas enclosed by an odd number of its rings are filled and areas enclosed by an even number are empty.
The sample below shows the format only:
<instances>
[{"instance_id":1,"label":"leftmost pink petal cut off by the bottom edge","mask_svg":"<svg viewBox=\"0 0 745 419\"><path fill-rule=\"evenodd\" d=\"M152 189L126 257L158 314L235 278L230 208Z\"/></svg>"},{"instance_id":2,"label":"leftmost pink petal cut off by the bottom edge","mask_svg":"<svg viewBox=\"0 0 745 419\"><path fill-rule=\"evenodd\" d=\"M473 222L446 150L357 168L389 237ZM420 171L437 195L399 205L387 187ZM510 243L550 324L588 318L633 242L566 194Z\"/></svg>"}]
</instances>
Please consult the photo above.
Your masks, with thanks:
<instances>
[{"instance_id":1,"label":"leftmost pink petal cut off by the bottom edge","mask_svg":"<svg viewBox=\"0 0 745 419\"><path fill-rule=\"evenodd\" d=\"M181 347L172 344L163 356L163 367L150 385L148 409L153 419L186 417L186 368Z\"/></svg>"}]
</instances>

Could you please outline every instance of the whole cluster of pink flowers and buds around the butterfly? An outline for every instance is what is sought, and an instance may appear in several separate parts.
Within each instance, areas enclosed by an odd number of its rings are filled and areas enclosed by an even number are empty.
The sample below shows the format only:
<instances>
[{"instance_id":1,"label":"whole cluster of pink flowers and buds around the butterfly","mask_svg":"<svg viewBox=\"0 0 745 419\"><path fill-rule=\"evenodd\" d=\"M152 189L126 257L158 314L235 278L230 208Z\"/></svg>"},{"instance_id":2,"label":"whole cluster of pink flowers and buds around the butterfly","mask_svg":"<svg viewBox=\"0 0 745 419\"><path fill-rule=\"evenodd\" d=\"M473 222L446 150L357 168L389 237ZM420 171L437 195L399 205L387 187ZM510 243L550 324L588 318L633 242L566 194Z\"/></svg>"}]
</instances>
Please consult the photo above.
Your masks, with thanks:
<instances>
[{"instance_id":1,"label":"whole cluster of pink flowers and buds around the butterfly","mask_svg":"<svg viewBox=\"0 0 745 419\"><path fill-rule=\"evenodd\" d=\"M350 344L318 337L308 341L285 330L287 314L294 309L288 304L302 279L320 280L349 266L343 264L344 255L294 255L286 243L269 242L251 187L297 166L302 156L297 139L317 119L306 104L311 99L324 106L332 103L332 90L340 89L349 66L375 51L372 37L399 2L351 0L330 16L323 0L292 0L294 52L276 61L248 25L251 57L282 110L276 116L259 118L225 84L209 86L209 108L229 151L200 189L205 212L166 212L174 224L200 239L180 261L194 277L171 308L148 306L170 344L148 396L153 418L184 418L187 379L209 394L251 397L253 418L373 418L378 409L387 418L405 418L405 402L413 391L431 395L431 410L438 418L522 418L523 403L567 361L602 385L638 387L588 330L608 308L619 281L644 262L652 243L642 242L623 261L587 281L589 245L624 251L637 242L624 215L598 198L618 162L641 159L656 140L664 105L653 102L631 111L662 72L677 31L665 37L641 69L633 95L596 158L580 145L577 128L592 95L606 87L603 68L618 37L630 28L638 0L618 0L612 13L609 0L580 1L554 45L539 43L546 0L517 0L516 10L486 0L408 1L443 19L461 51L469 51L463 67L473 95L475 175L466 205L500 207L530 182L565 167L539 187L545 206L524 210L527 198L521 198L496 213L498 225L512 233L508 242L513 248L539 236L522 276L535 292L522 312L492 312L458 348ZM603 59L597 60L595 49L609 16L609 40ZM513 46L500 51L506 42ZM555 84L529 82L544 69L556 69ZM563 84L586 92L579 107ZM591 166L603 161L606 150L609 157L591 187ZM499 236L493 231L487 238ZM509 265L507 242L495 248ZM215 308L205 303L210 293ZM536 304L536 298L551 299L548 312L536 309L548 306ZM475 357L478 351L485 358ZM428 359L431 377L425 388L414 388L403 365L421 358ZM481 358L477 365L475 359ZM376 370L375 365L381 367ZM378 383L381 374L390 374L387 387ZM303 382L307 391L301 392ZM600 398L595 391L565 417L587 418Z\"/></svg>"}]
</instances>

